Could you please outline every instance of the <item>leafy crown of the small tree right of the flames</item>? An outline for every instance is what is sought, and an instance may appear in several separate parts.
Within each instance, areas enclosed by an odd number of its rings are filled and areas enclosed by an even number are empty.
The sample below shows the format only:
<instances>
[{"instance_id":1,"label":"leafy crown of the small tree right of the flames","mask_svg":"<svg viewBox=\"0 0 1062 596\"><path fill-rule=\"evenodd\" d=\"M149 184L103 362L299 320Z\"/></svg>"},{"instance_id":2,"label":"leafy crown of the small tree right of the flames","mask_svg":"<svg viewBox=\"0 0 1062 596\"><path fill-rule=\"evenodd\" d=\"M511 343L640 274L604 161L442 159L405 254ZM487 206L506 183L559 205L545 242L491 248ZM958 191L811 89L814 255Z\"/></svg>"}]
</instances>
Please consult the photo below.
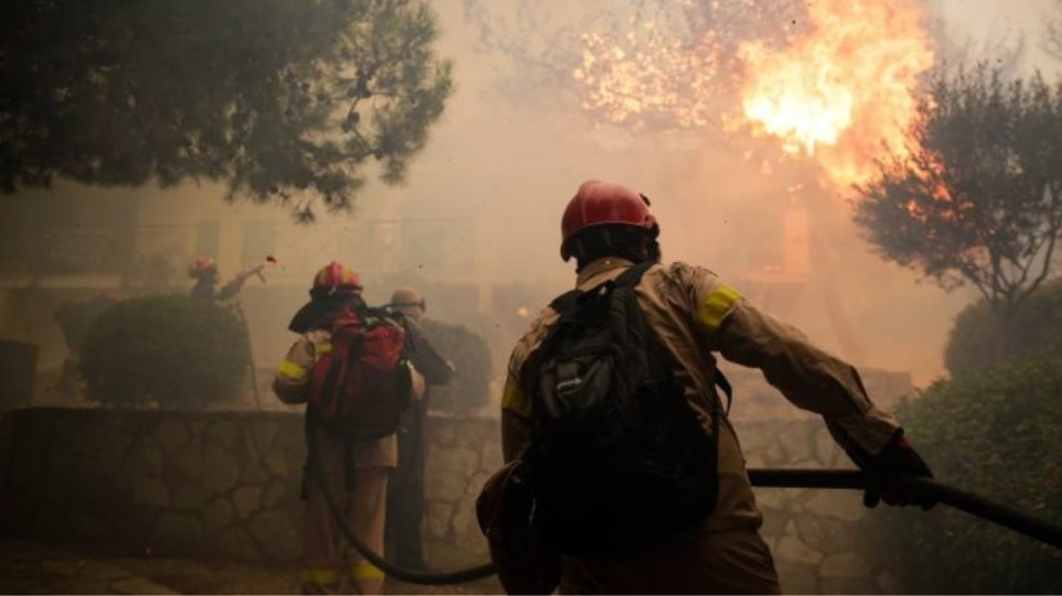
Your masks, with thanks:
<instances>
[{"instance_id":1,"label":"leafy crown of the small tree right of the flames","mask_svg":"<svg viewBox=\"0 0 1062 596\"><path fill-rule=\"evenodd\" d=\"M884 259L1011 313L1062 232L1062 82L981 65L935 77L919 110L909 156L857 187L856 223Z\"/></svg>"}]
</instances>

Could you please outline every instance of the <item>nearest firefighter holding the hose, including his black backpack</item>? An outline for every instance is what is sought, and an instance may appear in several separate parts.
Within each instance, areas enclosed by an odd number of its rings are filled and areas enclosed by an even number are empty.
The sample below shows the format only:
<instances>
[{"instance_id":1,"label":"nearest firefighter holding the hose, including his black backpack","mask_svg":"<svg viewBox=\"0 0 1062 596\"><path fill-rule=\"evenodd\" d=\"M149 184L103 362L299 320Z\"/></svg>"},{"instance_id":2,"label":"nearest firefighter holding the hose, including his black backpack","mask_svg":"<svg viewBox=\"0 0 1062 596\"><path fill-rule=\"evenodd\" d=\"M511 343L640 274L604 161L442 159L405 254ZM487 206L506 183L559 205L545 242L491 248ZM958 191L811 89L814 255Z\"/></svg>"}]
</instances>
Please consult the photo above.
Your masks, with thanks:
<instances>
[{"instance_id":1,"label":"nearest firefighter holding the hose, including his black backpack","mask_svg":"<svg viewBox=\"0 0 1062 596\"><path fill-rule=\"evenodd\" d=\"M759 368L824 418L880 478L865 495L869 507L882 498L933 506L889 481L931 474L856 369L709 270L659 264L659 227L644 195L589 181L561 231L577 291L554 301L513 350L502 403L507 464L479 503L481 523L485 510L501 525L486 533L507 589L779 593L716 390L729 393L716 353Z\"/></svg>"}]
</instances>

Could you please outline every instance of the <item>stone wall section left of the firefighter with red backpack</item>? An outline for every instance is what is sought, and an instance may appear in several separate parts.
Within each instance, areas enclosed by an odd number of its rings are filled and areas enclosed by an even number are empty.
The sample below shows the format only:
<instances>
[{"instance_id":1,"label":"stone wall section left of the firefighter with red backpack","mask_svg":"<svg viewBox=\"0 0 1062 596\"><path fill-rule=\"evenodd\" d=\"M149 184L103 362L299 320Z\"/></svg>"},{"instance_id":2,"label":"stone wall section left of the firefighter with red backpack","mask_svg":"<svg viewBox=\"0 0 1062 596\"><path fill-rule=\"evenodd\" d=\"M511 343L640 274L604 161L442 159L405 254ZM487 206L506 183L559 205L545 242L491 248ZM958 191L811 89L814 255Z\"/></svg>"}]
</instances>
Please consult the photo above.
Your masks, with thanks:
<instances>
[{"instance_id":1,"label":"stone wall section left of the firefighter with red backpack","mask_svg":"<svg viewBox=\"0 0 1062 596\"><path fill-rule=\"evenodd\" d=\"M2 523L126 551L294 561L291 414L30 409L3 419Z\"/></svg>"}]
</instances>

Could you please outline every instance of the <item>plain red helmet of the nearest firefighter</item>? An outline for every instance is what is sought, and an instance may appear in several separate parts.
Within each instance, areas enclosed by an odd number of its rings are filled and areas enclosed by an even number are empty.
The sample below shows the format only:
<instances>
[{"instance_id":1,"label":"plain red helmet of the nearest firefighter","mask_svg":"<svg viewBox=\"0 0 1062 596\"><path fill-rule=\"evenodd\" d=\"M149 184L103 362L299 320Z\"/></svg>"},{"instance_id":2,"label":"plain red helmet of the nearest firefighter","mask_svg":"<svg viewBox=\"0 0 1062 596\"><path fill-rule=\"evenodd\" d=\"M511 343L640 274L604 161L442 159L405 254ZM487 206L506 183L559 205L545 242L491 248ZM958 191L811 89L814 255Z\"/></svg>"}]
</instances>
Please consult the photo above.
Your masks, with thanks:
<instances>
[{"instance_id":1,"label":"plain red helmet of the nearest firefighter","mask_svg":"<svg viewBox=\"0 0 1062 596\"><path fill-rule=\"evenodd\" d=\"M560 258L571 258L570 240L580 231L603 225L634 226L653 238L659 234L656 218L650 212L648 198L626 186L588 180L568 202L560 220Z\"/></svg>"}]
</instances>

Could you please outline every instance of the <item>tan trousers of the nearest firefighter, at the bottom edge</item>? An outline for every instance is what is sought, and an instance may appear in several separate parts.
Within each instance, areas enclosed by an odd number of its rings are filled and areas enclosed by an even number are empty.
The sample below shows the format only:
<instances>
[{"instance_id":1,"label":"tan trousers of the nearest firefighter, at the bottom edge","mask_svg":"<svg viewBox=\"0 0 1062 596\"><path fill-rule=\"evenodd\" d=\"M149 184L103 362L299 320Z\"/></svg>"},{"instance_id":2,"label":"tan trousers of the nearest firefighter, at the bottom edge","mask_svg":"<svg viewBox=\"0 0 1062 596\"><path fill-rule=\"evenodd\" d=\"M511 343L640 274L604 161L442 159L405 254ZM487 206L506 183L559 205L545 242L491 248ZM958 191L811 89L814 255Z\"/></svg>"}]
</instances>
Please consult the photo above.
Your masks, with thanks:
<instances>
[{"instance_id":1,"label":"tan trousers of the nearest firefighter, at the bottom edge","mask_svg":"<svg viewBox=\"0 0 1062 596\"><path fill-rule=\"evenodd\" d=\"M781 594L754 530L683 534L652 551L565 557L560 594Z\"/></svg>"}]
</instances>

